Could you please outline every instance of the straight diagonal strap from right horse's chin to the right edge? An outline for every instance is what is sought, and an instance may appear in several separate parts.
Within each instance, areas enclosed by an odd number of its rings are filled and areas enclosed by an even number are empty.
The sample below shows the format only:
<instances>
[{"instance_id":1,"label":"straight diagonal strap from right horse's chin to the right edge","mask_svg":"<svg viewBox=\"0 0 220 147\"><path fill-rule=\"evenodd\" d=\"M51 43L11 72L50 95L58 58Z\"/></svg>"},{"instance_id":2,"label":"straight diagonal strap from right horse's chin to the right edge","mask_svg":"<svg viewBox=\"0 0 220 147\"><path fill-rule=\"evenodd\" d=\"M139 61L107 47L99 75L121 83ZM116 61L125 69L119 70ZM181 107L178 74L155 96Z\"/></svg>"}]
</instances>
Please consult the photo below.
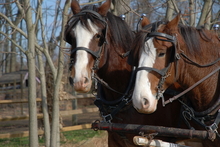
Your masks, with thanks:
<instances>
[{"instance_id":1,"label":"straight diagonal strap from right horse's chin to the right edge","mask_svg":"<svg viewBox=\"0 0 220 147\"><path fill-rule=\"evenodd\" d=\"M164 102L164 105L172 103L174 100L177 100L179 97L183 96L184 94L186 94L187 92L189 92L190 90L192 90L193 88L195 88L196 86L198 86L199 84L201 84L203 81L205 81L206 79L208 79L209 77L211 77L213 74L215 74L217 71L220 70L220 67L218 67L217 69L215 69L214 71L212 71L211 73L209 73L207 76L205 76L204 78L202 78L201 80L199 80L198 82L196 82L195 84L193 84L192 86L190 86L189 88L187 88L186 90L184 90L183 92L179 93L176 96L173 96L172 98L170 98L169 100Z\"/></svg>"}]
</instances>

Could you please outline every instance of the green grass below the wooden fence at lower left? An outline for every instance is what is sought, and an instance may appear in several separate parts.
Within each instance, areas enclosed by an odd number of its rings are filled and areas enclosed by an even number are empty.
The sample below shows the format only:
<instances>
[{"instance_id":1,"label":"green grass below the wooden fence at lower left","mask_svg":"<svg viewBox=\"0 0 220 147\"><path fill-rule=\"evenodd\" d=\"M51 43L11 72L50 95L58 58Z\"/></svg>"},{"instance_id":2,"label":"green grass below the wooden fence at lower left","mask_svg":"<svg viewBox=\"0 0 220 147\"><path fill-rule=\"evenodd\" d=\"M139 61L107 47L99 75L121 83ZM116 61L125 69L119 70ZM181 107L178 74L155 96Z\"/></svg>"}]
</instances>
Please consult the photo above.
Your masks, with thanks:
<instances>
[{"instance_id":1,"label":"green grass below the wooden fence at lower left","mask_svg":"<svg viewBox=\"0 0 220 147\"><path fill-rule=\"evenodd\" d=\"M61 145L66 142L76 144L94 136L101 136L103 131L94 131L91 129L76 130L63 132L65 141L61 141ZM39 145L44 145L44 138L39 139ZM29 138L7 138L0 139L0 147L29 147Z\"/></svg>"}]
</instances>

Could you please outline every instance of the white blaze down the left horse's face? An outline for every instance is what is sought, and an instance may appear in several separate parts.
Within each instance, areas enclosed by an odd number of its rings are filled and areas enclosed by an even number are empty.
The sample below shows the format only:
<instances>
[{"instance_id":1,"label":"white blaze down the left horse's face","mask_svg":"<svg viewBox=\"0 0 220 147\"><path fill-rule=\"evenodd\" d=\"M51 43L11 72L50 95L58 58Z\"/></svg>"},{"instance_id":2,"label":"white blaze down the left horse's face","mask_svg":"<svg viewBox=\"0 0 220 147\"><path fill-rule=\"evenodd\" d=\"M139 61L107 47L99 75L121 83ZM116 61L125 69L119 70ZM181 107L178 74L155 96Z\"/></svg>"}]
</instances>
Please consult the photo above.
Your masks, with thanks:
<instances>
[{"instance_id":1,"label":"white blaze down the left horse's face","mask_svg":"<svg viewBox=\"0 0 220 147\"><path fill-rule=\"evenodd\" d=\"M76 45L77 47L86 47L89 48L89 43L92 39L92 37L98 32L98 28L92 24L90 20L88 20L89 25L91 27L91 32L85 27L81 25L80 22L76 25L74 28L74 33L76 37ZM83 78L88 78L88 72L87 72L87 64L88 64L88 53L83 50L78 50L76 52L77 60L75 63L75 77L74 77L74 83L80 82Z\"/></svg>"}]
</instances>

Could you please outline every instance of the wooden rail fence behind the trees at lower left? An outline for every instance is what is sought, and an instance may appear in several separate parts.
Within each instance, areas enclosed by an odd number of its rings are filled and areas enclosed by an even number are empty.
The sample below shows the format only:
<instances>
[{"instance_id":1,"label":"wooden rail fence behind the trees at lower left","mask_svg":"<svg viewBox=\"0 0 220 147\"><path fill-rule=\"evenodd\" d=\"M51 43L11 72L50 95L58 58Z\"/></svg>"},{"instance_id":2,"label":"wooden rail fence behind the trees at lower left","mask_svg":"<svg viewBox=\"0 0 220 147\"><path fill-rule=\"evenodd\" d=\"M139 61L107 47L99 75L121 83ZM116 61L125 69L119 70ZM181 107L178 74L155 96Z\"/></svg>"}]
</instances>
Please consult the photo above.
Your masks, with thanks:
<instances>
[{"instance_id":1,"label":"wooden rail fence behind the trees at lower left","mask_svg":"<svg viewBox=\"0 0 220 147\"><path fill-rule=\"evenodd\" d=\"M71 99L82 99L82 98L91 98L94 97L91 94L87 95L78 95L78 96L73 96ZM68 99L70 100L70 99ZM41 102L41 98L37 98L36 102ZM0 100L0 105L1 104L15 104L15 103L28 103L27 99L21 99L21 100ZM78 115L78 114L84 114L84 113L89 113L89 112L97 112L98 113L98 108L82 108L82 109L76 109L76 110L68 110L68 111L60 111L61 116L72 116L72 115ZM37 114L38 119L43 118L42 113ZM16 121L16 120L28 120L29 115L17 115L17 116L0 116L0 122L2 121ZM88 129L91 128L91 124L82 124L82 125L74 125L74 126L68 126L68 127L63 127L61 128L61 132L65 131L73 131L73 130L80 130L80 129ZM39 130L38 131L39 135L43 135L44 131ZM27 137L29 136L29 131L20 131L20 132L8 132L4 134L0 134L0 138L13 138L13 137Z\"/></svg>"}]
</instances>

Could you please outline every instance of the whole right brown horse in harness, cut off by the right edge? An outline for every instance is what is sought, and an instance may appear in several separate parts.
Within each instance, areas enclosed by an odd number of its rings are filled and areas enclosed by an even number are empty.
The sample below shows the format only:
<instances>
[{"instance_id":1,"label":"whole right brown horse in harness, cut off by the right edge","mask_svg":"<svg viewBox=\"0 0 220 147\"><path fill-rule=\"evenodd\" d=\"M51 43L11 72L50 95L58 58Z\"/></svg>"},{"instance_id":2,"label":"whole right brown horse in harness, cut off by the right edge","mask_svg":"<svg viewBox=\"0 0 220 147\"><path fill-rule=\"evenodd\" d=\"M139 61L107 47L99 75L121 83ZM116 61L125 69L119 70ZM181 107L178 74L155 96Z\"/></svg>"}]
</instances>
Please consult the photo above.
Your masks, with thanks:
<instances>
[{"instance_id":1,"label":"whole right brown horse in harness, cut off by the right edge","mask_svg":"<svg viewBox=\"0 0 220 147\"><path fill-rule=\"evenodd\" d=\"M147 20L147 19L145 19ZM220 145L220 39L217 34L179 24L180 14L170 22L149 24L134 39L130 59L137 75L132 101L137 111L152 113L162 98L163 105L185 94L181 101L189 127L216 132L202 140L205 147ZM167 101L163 92L177 82L184 91ZM157 112L157 111L156 111Z\"/></svg>"}]
</instances>

